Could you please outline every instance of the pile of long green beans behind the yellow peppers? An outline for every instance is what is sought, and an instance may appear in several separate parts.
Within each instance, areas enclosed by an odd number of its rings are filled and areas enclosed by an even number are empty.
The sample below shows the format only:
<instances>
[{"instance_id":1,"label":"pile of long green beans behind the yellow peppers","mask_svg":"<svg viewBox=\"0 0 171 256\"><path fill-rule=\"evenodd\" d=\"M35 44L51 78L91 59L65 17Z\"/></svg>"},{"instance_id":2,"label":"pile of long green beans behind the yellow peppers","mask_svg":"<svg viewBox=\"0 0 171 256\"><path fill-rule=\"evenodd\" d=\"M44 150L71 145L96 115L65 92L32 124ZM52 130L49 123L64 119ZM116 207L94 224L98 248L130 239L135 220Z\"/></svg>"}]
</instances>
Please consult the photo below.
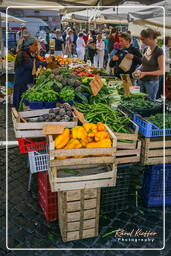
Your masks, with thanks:
<instances>
[{"instance_id":1,"label":"pile of long green beans behind the yellow peppers","mask_svg":"<svg viewBox=\"0 0 171 256\"><path fill-rule=\"evenodd\" d=\"M84 114L87 122L102 122L107 124L113 132L130 133L129 118L108 105L103 103L92 105L76 103L75 105Z\"/></svg>"}]
</instances>

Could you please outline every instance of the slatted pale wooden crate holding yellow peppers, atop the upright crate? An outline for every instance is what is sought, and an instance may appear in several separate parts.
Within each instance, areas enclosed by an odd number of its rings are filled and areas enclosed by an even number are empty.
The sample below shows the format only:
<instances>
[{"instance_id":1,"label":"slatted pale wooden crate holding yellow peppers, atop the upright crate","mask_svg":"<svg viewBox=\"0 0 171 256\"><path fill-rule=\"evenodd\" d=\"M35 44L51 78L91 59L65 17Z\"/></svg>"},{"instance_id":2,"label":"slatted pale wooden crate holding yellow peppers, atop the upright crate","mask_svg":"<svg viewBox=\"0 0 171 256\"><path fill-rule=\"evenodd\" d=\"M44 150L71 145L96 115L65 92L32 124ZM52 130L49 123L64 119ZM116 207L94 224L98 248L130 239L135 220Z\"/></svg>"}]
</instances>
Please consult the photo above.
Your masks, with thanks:
<instances>
[{"instance_id":1,"label":"slatted pale wooden crate holding yellow peppers, atop the upright crate","mask_svg":"<svg viewBox=\"0 0 171 256\"><path fill-rule=\"evenodd\" d=\"M49 180L53 192L68 190L68 187L70 189L83 189L115 185L116 137L107 126L106 129L113 142L111 148L55 149L53 136L48 136L50 154ZM56 159L61 156L80 155L84 157ZM65 169L78 170L79 175L66 176Z\"/></svg>"}]
</instances>

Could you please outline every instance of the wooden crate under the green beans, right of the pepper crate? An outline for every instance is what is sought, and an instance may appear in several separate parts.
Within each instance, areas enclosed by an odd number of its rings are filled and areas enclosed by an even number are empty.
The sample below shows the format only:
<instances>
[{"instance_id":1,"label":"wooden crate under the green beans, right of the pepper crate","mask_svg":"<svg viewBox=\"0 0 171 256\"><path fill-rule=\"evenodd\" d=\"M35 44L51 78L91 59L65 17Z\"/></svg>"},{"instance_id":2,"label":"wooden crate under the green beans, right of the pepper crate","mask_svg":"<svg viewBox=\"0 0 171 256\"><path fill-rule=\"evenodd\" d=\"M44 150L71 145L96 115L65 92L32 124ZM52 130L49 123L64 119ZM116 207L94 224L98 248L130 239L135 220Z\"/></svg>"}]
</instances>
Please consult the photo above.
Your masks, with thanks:
<instances>
[{"instance_id":1,"label":"wooden crate under the green beans, right of the pepper crate","mask_svg":"<svg viewBox=\"0 0 171 256\"><path fill-rule=\"evenodd\" d=\"M135 149L118 149L116 151L116 164L140 162L141 141L137 140Z\"/></svg>"}]
</instances>

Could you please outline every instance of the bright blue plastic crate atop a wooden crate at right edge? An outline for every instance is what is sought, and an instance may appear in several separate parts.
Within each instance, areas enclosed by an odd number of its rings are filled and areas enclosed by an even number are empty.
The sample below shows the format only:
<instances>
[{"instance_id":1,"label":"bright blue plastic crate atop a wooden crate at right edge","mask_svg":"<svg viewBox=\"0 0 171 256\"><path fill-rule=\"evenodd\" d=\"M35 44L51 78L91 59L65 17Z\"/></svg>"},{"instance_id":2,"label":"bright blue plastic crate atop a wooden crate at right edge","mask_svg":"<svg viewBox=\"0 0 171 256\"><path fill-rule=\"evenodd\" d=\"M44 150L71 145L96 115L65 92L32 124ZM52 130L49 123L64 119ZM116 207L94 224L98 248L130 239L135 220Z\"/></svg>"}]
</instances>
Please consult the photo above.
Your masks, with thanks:
<instances>
[{"instance_id":1,"label":"bright blue plastic crate atop a wooden crate at right edge","mask_svg":"<svg viewBox=\"0 0 171 256\"><path fill-rule=\"evenodd\" d=\"M134 115L133 121L139 126L139 133L145 137L161 137L164 135L164 129L147 122L138 114ZM165 136L171 136L171 129L165 129Z\"/></svg>"}]
</instances>

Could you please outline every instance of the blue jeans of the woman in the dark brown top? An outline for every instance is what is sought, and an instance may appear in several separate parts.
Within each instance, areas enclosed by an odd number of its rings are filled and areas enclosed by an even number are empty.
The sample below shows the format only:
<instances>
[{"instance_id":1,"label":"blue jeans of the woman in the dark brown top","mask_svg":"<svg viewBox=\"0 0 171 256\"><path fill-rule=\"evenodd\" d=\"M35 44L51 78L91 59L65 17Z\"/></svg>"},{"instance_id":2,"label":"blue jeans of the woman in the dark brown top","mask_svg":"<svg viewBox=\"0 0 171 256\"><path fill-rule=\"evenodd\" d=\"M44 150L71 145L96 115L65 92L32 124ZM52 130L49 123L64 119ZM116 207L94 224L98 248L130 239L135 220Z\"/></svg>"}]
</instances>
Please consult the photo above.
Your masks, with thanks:
<instances>
[{"instance_id":1,"label":"blue jeans of the woman in the dark brown top","mask_svg":"<svg viewBox=\"0 0 171 256\"><path fill-rule=\"evenodd\" d=\"M155 100L159 89L159 80L138 81L140 92L148 94L150 100Z\"/></svg>"}]
</instances>

